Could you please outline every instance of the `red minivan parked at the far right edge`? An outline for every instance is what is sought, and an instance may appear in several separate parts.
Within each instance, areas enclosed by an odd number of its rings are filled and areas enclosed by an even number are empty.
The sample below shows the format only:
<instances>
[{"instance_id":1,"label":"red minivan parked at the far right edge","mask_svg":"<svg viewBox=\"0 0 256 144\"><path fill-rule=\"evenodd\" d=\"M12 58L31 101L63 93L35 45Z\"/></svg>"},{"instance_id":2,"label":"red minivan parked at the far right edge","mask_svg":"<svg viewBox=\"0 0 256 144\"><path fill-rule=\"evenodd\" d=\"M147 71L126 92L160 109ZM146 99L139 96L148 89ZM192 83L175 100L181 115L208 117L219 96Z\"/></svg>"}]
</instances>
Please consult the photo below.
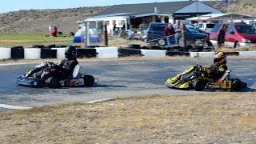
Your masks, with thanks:
<instances>
[{"instance_id":1,"label":"red minivan parked at the far right edge","mask_svg":"<svg viewBox=\"0 0 256 144\"><path fill-rule=\"evenodd\" d=\"M244 22L216 24L210 33L214 46L240 47L256 45L256 29Z\"/></svg>"}]
</instances>

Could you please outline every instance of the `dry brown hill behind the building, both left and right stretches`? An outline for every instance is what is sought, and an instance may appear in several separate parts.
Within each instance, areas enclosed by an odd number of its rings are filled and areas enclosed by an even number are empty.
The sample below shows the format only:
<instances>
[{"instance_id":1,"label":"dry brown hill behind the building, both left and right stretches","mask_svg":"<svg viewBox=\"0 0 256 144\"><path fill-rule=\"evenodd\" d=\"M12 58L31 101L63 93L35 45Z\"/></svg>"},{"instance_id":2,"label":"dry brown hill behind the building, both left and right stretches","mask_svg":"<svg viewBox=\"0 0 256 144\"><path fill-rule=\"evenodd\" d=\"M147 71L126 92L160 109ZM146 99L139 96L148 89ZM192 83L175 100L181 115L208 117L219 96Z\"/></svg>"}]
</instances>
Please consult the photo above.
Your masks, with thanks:
<instances>
[{"instance_id":1,"label":"dry brown hill behind the building, both left and right stretches","mask_svg":"<svg viewBox=\"0 0 256 144\"><path fill-rule=\"evenodd\" d=\"M167 1L167 0L166 0ZM230 6L220 6L220 1L206 1L223 12L246 14L256 17L255 0L232 0ZM79 20L85 19L106 6L80 7L58 10L19 10L0 14L0 34L47 34L50 25L57 26L64 34L78 30Z\"/></svg>"}]
</instances>

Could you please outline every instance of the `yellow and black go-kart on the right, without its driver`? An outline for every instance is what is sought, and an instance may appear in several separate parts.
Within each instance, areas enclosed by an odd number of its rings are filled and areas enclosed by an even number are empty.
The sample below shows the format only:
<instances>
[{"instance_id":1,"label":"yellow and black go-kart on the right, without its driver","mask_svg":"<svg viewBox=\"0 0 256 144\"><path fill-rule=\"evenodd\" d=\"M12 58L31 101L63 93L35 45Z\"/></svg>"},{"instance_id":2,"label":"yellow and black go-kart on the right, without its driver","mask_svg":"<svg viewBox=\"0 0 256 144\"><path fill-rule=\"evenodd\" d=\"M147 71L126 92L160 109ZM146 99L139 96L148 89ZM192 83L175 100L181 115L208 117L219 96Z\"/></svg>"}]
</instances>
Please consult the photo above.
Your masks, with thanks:
<instances>
[{"instance_id":1,"label":"yellow and black go-kart on the right, without its driver","mask_svg":"<svg viewBox=\"0 0 256 144\"><path fill-rule=\"evenodd\" d=\"M182 74L168 78L165 85L169 88L180 90L230 90L241 91L247 84L238 78L230 78L230 70L226 70L222 78L206 77L202 66L190 66ZM189 76L186 76L190 74ZM186 78L185 78L186 77Z\"/></svg>"}]
</instances>

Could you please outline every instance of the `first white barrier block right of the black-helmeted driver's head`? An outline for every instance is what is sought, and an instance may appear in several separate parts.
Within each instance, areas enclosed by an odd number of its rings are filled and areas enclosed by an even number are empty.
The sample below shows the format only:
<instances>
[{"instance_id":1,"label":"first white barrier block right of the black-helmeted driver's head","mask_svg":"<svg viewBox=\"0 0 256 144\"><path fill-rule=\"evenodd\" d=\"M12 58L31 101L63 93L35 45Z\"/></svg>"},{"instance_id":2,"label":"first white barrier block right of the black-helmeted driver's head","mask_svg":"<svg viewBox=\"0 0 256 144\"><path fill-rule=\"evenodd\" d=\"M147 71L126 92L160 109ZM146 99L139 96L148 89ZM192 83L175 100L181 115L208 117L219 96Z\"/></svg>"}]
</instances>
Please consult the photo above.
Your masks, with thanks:
<instances>
[{"instance_id":1,"label":"first white barrier block right of the black-helmeted driver's head","mask_svg":"<svg viewBox=\"0 0 256 144\"><path fill-rule=\"evenodd\" d=\"M97 47L95 48L97 58L118 58L118 47Z\"/></svg>"}]
</instances>

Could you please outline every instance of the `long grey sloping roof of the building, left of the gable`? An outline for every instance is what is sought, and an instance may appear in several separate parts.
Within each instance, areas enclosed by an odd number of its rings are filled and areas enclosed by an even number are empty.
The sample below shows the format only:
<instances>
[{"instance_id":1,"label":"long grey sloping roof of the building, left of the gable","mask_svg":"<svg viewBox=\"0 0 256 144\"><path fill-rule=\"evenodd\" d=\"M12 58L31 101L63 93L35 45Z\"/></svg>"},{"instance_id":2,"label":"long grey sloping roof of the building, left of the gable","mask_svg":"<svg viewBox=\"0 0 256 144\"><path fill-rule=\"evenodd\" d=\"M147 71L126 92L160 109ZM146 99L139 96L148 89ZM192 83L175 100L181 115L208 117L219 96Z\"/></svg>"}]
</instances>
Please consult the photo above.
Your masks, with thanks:
<instances>
[{"instance_id":1,"label":"long grey sloping roof of the building, left of the gable","mask_svg":"<svg viewBox=\"0 0 256 144\"><path fill-rule=\"evenodd\" d=\"M177 10L182 9L185 6L190 5L194 1L182 1L182 2L154 2L154 3L139 3L139 4L122 4L114 5L100 11L94 16L109 15L118 13L132 13L134 15L153 14L172 14Z\"/></svg>"}]
</instances>

